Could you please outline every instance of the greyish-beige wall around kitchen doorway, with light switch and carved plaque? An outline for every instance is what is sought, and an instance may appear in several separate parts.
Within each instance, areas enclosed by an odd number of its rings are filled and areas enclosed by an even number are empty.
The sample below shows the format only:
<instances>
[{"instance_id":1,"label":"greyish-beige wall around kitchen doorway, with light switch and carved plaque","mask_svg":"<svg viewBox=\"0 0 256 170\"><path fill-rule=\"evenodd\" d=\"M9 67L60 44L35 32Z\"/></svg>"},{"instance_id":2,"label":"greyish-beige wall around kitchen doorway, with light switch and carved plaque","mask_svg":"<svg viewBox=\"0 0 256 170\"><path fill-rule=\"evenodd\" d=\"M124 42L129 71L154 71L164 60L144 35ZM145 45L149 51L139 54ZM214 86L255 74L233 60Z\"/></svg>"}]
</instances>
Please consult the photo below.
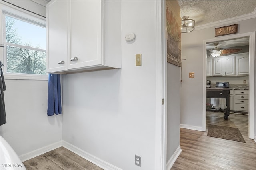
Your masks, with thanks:
<instances>
[{"instance_id":1,"label":"greyish-beige wall around kitchen doorway, with light switch and carved plaque","mask_svg":"<svg viewBox=\"0 0 256 170\"><path fill-rule=\"evenodd\" d=\"M256 30L256 19L243 20L238 23L238 34ZM236 23L228 23L232 25ZM220 26L216 26L220 27ZM182 34L182 86L180 124L194 129L202 128L202 92L203 92L203 40L214 38L214 28L194 30ZM195 78L188 78L189 72L195 72ZM249 87L250 88L250 87Z\"/></svg>"}]
</instances>

